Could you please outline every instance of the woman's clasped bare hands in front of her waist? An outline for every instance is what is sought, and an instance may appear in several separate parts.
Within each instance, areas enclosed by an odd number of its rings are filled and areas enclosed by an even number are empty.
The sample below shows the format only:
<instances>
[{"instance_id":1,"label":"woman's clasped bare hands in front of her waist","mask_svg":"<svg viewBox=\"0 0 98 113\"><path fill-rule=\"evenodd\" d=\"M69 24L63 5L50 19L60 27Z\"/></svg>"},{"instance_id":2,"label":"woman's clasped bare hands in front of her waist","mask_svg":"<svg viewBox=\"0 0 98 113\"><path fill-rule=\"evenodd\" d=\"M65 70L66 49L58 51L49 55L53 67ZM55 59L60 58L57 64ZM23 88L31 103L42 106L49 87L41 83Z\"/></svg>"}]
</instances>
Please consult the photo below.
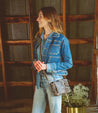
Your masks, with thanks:
<instances>
[{"instance_id":1,"label":"woman's clasped bare hands in front of her waist","mask_svg":"<svg viewBox=\"0 0 98 113\"><path fill-rule=\"evenodd\" d=\"M46 70L47 69L47 65L44 64L44 62L41 62L41 61L34 61L33 62L35 68L37 69L37 71L42 71L42 70Z\"/></svg>"}]
</instances>

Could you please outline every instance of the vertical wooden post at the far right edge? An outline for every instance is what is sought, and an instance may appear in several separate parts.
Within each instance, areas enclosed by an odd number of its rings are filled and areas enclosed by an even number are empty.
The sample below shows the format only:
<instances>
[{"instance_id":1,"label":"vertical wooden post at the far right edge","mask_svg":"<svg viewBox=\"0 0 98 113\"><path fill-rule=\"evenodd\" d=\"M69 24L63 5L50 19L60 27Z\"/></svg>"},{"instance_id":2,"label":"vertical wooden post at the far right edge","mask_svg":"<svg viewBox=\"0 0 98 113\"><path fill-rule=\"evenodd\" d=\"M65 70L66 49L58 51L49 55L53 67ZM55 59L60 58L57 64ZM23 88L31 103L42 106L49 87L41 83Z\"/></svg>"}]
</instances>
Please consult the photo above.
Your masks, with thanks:
<instances>
[{"instance_id":1,"label":"vertical wooden post at the far right edge","mask_svg":"<svg viewBox=\"0 0 98 113\"><path fill-rule=\"evenodd\" d=\"M96 37L98 36L98 0L95 0L95 20L94 20L94 43L93 50L96 49ZM96 54L93 54L92 60L92 81L91 81L91 101L96 103L97 98L97 65L96 65Z\"/></svg>"}]
</instances>

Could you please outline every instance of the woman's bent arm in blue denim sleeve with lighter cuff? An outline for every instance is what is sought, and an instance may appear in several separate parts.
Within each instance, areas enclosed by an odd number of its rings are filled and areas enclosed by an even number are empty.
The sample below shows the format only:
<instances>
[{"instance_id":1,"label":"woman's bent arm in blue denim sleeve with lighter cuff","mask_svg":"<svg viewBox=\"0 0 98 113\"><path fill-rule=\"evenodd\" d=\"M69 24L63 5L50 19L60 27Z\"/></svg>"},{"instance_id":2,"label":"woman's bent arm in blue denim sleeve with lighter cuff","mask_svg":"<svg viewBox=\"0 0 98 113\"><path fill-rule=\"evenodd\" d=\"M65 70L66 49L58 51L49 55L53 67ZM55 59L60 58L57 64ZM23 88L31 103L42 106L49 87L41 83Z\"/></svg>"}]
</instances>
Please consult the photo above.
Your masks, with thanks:
<instances>
[{"instance_id":1,"label":"woman's bent arm in blue denim sleeve with lighter cuff","mask_svg":"<svg viewBox=\"0 0 98 113\"><path fill-rule=\"evenodd\" d=\"M58 71L67 70L73 66L69 41L64 38L61 46L62 61L58 63L47 63L47 72L56 73Z\"/></svg>"}]
</instances>

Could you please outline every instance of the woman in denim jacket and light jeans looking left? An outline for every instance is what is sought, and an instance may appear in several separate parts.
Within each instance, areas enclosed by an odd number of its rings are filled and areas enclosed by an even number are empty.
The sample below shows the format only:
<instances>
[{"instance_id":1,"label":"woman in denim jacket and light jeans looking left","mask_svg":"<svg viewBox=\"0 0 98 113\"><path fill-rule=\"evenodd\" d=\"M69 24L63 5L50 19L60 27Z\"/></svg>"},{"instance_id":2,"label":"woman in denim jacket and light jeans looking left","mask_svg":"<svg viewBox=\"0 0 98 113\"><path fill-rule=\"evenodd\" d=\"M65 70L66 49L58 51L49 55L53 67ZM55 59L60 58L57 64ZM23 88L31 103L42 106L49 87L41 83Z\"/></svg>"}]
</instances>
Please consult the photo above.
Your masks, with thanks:
<instances>
[{"instance_id":1,"label":"woman in denim jacket and light jeans looking left","mask_svg":"<svg viewBox=\"0 0 98 113\"><path fill-rule=\"evenodd\" d=\"M44 113L46 97L50 112L61 113L62 96L54 96L49 82L63 79L71 68L72 57L68 39L63 35L60 18L53 7L44 7L37 18L39 32L34 44L33 67L37 70L32 113ZM42 57L42 58L41 58ZM49 82L43 75L45 70Z\"/></svg>"}]
</instances>

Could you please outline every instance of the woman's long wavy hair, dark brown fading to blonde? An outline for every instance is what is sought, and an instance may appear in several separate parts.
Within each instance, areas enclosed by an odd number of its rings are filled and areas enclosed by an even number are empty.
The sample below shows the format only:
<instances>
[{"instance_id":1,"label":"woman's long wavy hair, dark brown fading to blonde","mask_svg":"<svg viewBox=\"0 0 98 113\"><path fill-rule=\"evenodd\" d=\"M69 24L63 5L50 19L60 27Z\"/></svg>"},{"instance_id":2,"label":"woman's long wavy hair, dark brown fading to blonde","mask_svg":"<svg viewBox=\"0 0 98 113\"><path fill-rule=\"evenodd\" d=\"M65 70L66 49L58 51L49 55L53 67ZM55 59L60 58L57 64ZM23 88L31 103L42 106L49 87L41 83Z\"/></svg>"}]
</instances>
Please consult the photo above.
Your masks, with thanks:
<instances>
[{"instance_id":1,"label":"woman's long wavy hair, dark brown fading to blonde","mask_svg":"<svg viewBox=\"0 0 98 113\"><path fill-rule=\"evenodd\" d=\"M59 15L54 7L43 7L40 9L42 11L44 18L48 20L48 25L50 29L56 33L63 34L62 22ZM39 34L43 32L43 28L39 29Z\"/></svg>"}]
</instances>

